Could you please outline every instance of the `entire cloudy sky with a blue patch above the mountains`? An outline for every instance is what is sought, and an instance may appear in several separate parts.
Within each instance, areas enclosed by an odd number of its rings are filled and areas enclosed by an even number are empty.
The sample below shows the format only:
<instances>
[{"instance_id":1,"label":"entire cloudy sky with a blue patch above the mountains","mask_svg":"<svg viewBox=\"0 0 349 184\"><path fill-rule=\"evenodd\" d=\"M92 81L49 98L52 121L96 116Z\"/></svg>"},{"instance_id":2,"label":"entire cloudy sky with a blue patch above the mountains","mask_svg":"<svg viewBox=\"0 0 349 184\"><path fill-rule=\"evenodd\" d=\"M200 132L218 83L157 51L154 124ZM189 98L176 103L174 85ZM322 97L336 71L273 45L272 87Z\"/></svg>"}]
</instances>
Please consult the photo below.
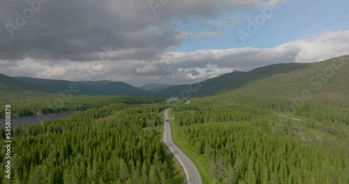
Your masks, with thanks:
<instances>
[{"instance_id":1,"label":"entire cloudy sky with a blue patch above the mountains","mask_svg":"<svg viewBox=\"0 0 349 184\"><path fill-rule=\"evenodd\" d=\"M347 0L2 0L0 73L189 84L349 54Z\"/></svg>"}]
</instances>

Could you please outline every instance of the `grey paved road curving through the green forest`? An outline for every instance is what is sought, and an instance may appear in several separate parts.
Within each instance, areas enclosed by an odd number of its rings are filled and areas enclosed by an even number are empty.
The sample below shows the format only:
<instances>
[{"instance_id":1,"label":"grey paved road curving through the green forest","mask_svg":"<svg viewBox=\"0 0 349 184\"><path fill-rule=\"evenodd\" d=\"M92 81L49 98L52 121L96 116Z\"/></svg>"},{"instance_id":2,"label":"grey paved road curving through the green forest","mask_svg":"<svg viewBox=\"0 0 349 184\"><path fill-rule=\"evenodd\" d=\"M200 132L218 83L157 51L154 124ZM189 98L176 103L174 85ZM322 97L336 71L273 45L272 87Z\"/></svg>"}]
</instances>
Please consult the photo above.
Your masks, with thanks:
<instances>
[{"instance_id":1,"label":"grey paved road curving through the green forest","mask_svg":"<svg viewBox=\"0 0 349 184\"><path fill-rule=\"evenodd\" d=\"M200 174L198 172L198 169L196 169L195 165L191 160L184 155L179 148L174 145L171 137L171 128L170 128L170 120L168 118L168 110L165 110L165 133L163 136L163 139L165 140L165 144L170 148L174 156L181 162L181 165L184 168L184 171L186 172L186 181L188 181L188 184L201 184L201 178Z\"/></svg>"}]
</instances>

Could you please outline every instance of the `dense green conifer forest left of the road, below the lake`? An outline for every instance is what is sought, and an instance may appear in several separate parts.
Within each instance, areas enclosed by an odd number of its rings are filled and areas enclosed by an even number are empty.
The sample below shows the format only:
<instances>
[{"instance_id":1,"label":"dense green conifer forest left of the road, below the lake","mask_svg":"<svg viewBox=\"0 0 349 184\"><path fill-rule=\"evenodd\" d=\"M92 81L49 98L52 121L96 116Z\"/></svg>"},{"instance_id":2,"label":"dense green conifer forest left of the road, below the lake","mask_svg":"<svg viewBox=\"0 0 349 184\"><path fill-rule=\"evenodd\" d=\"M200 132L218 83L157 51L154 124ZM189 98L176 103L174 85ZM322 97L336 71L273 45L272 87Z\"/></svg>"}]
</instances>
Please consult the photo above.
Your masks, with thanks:
<instances>
[{"instance_id":1,"label":"dense green conifer forest left of the road, below the lake","mask_svg":"<svg viewBox=\"0 0 349 184\"><path fill-rule=\"evenodd\" d=\"M61 120L14 128L12 181L171 183L173 168L158 127L163 124L159 116L163 109L115 103ZM1 135L3 131L1 128ZM1 148L1 162L5 151Z\"/></svg>"}]
</instances>

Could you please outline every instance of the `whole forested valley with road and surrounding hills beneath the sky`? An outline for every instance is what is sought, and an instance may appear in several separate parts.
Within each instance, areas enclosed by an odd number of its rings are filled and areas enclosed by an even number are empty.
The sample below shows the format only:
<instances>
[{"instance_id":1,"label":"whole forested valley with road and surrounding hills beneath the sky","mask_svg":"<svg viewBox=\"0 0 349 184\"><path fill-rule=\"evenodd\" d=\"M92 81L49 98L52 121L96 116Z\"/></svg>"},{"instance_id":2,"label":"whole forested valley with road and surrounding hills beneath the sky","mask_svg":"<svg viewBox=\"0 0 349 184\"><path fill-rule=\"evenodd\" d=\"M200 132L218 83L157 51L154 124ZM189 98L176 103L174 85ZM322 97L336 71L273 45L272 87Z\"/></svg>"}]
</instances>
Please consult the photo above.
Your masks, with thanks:
<instances>
[{"instance_id":1,"label":"whole forested valley with road and surrounding hills beneath the sky","mask_svg":"<svg viewBox=\"0 0 349 184\"><path fill-rule=\"evenodd\" d=\"M71 82L4 77L13 82L0 81L0 105L11 104L14 124L75 113L13 127L13 178L1 183L348 183L349 58L339 59L232 72L195 84L190 99L180 97L188 85L69 95L54 91Z\"/></svg>"}]
</instances>

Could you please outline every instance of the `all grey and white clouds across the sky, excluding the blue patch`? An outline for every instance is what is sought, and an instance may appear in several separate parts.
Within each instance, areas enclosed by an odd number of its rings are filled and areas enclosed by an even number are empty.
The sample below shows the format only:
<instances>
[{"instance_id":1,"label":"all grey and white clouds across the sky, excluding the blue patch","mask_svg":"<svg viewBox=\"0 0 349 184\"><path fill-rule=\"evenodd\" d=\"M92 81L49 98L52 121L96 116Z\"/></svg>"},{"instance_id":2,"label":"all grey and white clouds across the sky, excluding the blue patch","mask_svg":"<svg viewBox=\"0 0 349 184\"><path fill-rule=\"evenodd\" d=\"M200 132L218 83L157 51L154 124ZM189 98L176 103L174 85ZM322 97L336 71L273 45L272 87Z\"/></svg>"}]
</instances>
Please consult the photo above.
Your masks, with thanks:
<instances>
[{"instance_id":1,"label":"all grey and white clouds across the sky, excluding the blue patch","mask_svg":"<svg viewBox=\"0 0 349 184\"><path fill-rule=\"evenodd\" d=\"M34 1L34 0L32 0ZM349 30L323 33L273 48L243 47L173 52L184 40L216 38L211 22L221 13L269 6L261 0L170 1L154 15L148 1L49 1L13 38L0 29L0 72L11 76L50 79L184 84L234 70L251 70L274 63L305 63L349 54ZM15 24L23 1L3 1L0 24ZM213 31L186 33L172 20L198 22ZM229 17L230 25L239 21ZM228 21L227 20L227 21ZM233 42L233 40L232 40Z\"/></svg>"}]
</instances>

